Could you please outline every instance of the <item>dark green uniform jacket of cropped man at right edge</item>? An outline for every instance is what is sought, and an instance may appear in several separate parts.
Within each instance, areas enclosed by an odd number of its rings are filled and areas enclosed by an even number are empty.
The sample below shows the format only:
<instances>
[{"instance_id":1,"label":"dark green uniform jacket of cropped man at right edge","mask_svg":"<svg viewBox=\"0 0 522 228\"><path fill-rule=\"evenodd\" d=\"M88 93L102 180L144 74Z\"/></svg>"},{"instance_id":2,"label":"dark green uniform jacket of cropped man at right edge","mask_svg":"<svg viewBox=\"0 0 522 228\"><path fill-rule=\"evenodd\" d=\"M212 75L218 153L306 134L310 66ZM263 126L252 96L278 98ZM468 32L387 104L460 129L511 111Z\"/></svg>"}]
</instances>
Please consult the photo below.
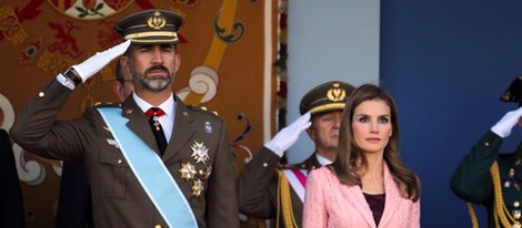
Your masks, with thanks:
<instances>
[{"instance_id":1,"label":"dark green uniform jacket of cropped man at right edge","mask_svg":"<svg viewBox=\"0 0 522 228\"><path fill-rule=\"evenodd\" d=\"M488 227L495 227L494 189L490 168L499 164L503 201L518 221L522 216L522 144L510 154L499 153L503 138L489 131L464 156L451 178L451 189L460 198L485 206Z\"/></svg>"}]
</instances>

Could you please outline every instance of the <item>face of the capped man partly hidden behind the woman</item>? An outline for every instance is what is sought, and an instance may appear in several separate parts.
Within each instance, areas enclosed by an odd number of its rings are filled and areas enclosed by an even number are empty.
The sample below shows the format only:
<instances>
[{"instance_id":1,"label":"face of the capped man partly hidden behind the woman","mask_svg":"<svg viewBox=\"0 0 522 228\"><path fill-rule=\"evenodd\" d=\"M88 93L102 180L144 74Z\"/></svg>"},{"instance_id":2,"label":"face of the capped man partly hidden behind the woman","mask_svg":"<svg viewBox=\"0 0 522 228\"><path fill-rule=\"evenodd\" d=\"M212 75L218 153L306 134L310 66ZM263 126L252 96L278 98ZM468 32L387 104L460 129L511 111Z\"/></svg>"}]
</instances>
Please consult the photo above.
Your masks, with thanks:
<instances>
[{"instance_id":1,"label":"face of the capped man partly hidden behind the woman","mask_svg":"<svg viewBox=\"0 0 522 228\"><path fill-rule=\"evenodd\" d=\"M312 125L307 132L315 143L318 153L338 149L341 114L342 111L333 111L312 116Z\"/></svg>"}]
</instances>

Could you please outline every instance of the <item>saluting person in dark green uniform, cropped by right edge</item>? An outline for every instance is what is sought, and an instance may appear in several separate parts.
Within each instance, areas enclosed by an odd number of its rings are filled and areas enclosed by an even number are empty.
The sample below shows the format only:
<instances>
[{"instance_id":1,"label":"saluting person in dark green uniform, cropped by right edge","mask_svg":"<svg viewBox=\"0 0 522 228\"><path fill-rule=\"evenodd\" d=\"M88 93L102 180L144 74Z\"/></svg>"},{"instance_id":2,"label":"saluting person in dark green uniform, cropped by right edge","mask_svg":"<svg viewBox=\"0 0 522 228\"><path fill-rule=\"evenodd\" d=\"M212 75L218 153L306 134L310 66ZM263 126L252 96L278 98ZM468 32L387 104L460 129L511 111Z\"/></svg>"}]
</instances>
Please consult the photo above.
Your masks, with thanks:
<instances>
[{"instance_id":1,"label":"saluting person in dark green uniform, cropped by right edge","mask_svg":"<svg viewBox=\"0 0 522 228\"><path fill-rule=\"evenodd\" d=\"M512 128L522 123L522 77L518 76L504 95L505 102L518 102L465 155L453 173L451 189L469 201L473 227L478 227L472 204L485 206L488 227L522 227L522 144L515 152L499 153Z\"/></svg>"}]
</instances>

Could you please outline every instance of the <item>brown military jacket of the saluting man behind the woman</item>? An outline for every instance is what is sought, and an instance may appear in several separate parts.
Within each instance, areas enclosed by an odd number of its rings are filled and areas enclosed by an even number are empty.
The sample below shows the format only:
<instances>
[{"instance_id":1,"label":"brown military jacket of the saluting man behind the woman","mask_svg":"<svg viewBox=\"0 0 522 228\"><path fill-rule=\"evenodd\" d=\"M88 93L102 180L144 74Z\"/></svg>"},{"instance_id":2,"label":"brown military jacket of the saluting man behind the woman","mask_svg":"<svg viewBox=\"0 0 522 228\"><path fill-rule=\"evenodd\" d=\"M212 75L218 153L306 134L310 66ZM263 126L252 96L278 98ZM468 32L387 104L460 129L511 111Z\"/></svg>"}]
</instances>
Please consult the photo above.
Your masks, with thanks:
<instances>
[{"instance_id":1,"label":"brown military jacket of the saluting man behind the woman","mask_svg":"<svg viewBox=\"0 0 522 228\"><path fill-rule=\"evenodd\" d=\"M303 163L293 165L281 165L280 157L267 147L255 154L240 174L239 180L239 209L240 213L254 218L278 218L275 221L280 227L284 227L282 210L278 215L278 169L303 168L309 172L319 168L321 165L313 153ZM290 197L292 201L292 213L298 227L302 227L303 203L291 188Z\"/></svg>"}]
</instances>

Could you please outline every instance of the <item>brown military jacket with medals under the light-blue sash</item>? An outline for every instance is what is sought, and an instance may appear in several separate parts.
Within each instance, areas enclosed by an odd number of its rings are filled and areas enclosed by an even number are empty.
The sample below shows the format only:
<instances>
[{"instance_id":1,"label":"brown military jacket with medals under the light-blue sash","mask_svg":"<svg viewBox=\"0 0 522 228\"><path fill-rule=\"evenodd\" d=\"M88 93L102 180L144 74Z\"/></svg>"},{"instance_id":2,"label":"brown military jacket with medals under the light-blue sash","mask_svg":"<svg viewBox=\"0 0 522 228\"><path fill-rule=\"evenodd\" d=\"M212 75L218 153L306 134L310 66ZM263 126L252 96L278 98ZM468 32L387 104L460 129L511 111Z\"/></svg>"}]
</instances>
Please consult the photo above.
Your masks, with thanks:
<instances>
[{"instance_id":1,"label":"brown military jacket with medals under the light-blue sash","mask_svg":"<svg viewBox=\"0 0 522 228\"><path fill-rule=\"evenodd\" d=\"M11 127L13 139L43 157L82 160L92 191L94 227L167 227L97 107L87 108L72 121L56 120L71 93L53 81L20 113ZM227 127L215 115L175 100L173 132L161 159L200 228L239 227L235 170ZM122 117L129 120L127 126L134 134L160 154L149 117L132 95L122 104ZM207 149L204 163L197 163L200 155L194 147ZM195 168L190 178L181 174L187 164ZM197 182L201 185L194 187ZM181 203L172 201L172 206L177 204Z\"/></svg>"}]
</instances>

